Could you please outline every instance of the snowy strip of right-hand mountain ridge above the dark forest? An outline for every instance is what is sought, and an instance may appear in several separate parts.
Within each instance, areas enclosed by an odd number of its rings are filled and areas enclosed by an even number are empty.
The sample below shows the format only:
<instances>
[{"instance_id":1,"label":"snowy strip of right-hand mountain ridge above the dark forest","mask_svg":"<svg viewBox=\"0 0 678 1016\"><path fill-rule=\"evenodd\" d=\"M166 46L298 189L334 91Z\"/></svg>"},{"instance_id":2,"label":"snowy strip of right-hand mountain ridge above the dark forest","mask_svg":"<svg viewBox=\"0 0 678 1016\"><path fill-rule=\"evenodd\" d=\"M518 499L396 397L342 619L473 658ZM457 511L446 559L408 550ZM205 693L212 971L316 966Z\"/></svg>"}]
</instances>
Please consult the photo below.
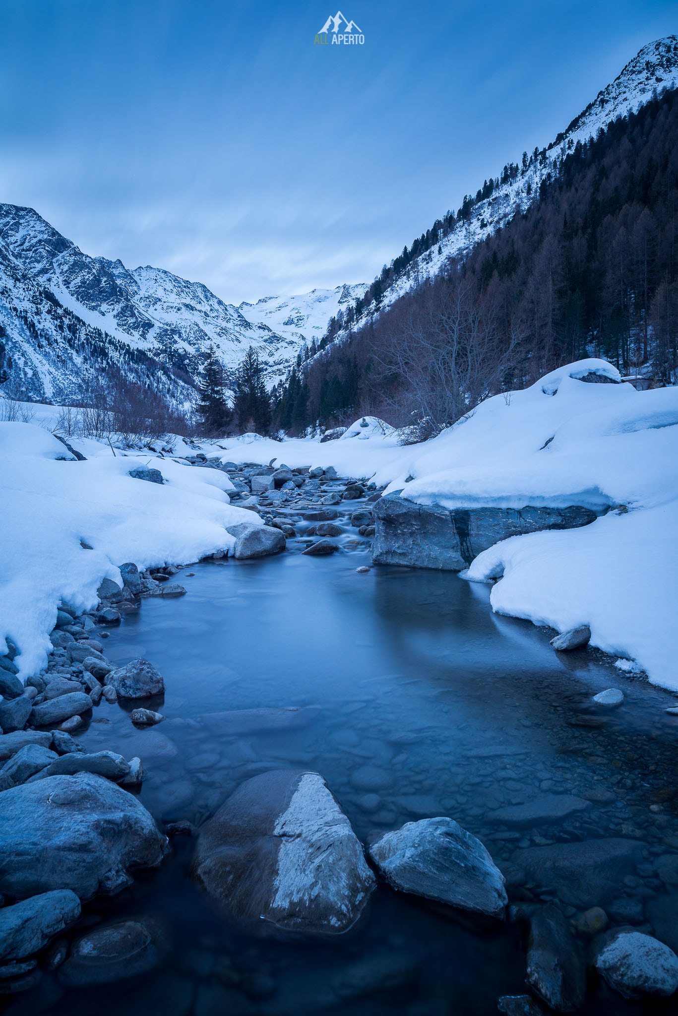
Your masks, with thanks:
<instances>
[{"instance_id":1,"label":"snowy strip of right-hand mountain ridge above the dark forest","mask_svg":"<svg viewBox=\"0 0 678 1016\"><path fill-rule=\"evenodd\" d=\"M517 211L525 211L539 194L542 180L554 175L557 164L577 142L595 136L617 117L637 111L655 92L675 87L678 87L678 37L668 36L643 46L614 81L599 91L562 133L544 148L535 149L529 155L527 166L516 165L514 173L509 173L506 180L497 178L498 186L493 187L489 197L476 201L471 196L468 216L464 220L457 219L449 232L440 230L433 245L414 258L384 291L379 309L383 310L404 293L438 274L448 258L463 257L472 247L509 221ZM353 322L353 328L376 310L374 303L368 306ZM337 338L341 340L342 337L340 331Z\"/></svg>"}]
</instances>

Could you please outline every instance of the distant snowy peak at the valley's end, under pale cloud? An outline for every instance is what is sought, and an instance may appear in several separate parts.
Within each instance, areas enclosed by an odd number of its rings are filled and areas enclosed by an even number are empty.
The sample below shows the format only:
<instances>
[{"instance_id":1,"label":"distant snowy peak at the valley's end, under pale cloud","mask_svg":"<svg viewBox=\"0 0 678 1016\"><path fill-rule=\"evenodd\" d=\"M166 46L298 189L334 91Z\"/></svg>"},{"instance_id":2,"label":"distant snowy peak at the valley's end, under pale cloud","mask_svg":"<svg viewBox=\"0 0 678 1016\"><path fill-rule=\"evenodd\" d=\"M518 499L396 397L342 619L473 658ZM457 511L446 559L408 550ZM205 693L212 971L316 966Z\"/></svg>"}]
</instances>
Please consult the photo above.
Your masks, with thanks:
<instances>
[{"instance_id":1,"label":"distant snowy peak at the valley's end, under pale cloud","mask_svg":"<svg viewBox=\"0 0 678 1016\"><path fill-rule=\"evenodd\" d=\"M333 290L311 290L297 297L263 297L255 304L242 303L238 310L251 324L267 325L297 345L322 338L330 318L362 297L365 282L337 285Z\"/></svg>"}]
</instances>

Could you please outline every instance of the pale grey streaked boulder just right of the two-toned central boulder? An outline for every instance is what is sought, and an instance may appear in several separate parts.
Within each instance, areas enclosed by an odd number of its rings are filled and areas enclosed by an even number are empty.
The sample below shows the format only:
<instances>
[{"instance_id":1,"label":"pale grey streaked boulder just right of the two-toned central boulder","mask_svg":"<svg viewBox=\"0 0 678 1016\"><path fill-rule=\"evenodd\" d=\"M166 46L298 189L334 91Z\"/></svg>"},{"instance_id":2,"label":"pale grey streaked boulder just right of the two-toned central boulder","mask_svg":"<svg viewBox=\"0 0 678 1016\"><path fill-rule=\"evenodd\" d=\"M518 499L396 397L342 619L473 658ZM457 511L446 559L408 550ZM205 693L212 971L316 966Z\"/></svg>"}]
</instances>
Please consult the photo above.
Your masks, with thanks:
<instances>
[{"instance_id":1,"label":"pale grey streaked boulder just right of the two-toned central boulder","mask_svg":"<svg viewBox=\"0 0 678 1016\"><path fill-rule=\"evenodd\" d=\"M369 854L395 889L503 917L504 877L483 844L453 819L422 819L386 832Z\"/></svg>"}]
</instances>

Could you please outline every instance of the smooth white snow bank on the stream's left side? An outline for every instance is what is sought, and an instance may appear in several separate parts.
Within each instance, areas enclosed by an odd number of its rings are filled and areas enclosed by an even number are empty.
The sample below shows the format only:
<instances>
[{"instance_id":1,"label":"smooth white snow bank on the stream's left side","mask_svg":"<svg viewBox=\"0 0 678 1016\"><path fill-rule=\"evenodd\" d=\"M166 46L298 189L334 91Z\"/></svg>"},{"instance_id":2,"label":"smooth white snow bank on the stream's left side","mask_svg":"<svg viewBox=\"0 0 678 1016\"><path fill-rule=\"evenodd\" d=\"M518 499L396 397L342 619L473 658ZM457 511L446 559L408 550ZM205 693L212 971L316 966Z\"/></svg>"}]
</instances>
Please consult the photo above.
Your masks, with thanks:
<instances>
[{"instance_id":1,"label":"smooth white snow bank on the stream's left side","mask_svg":"<svg viewBox=\"0 0 678 1016\"><path fill-rule=\"evenodd\" d=\"M86 610L103 578L120 582L125 561L140 568L195 561L234 546L225 526L260 524L230 505L233 485L217 469L152 457L165 481L152 484L128 475L147 453L98 449L99 457L78 462L43 428L0 423L0 651L6 638L17 645L21 677L45 665L59 599Z\"/></svg>"}]
</instances>

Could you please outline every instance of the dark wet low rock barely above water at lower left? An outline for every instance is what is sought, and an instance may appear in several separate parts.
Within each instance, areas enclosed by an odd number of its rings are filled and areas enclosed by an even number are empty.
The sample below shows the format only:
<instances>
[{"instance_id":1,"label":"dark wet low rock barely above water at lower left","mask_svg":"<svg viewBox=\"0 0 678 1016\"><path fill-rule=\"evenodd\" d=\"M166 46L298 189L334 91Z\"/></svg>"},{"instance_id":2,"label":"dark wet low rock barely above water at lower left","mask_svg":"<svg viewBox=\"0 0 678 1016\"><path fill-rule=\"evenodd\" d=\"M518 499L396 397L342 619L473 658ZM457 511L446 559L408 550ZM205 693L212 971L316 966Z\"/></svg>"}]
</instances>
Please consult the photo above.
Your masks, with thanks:
<instances>
[{"instance_id":1,"label":"dark wet low rock barely above water at lower left","mask_svg":"<svg viewBox=\"0 0 678 1016\"><path fill-rule=\"evenodd\" d=\"M107 985L158 966L167 948L160 925L136 917L100 925L77 939L59 969L64 985Z\"/></svg>"}]
</instances>

